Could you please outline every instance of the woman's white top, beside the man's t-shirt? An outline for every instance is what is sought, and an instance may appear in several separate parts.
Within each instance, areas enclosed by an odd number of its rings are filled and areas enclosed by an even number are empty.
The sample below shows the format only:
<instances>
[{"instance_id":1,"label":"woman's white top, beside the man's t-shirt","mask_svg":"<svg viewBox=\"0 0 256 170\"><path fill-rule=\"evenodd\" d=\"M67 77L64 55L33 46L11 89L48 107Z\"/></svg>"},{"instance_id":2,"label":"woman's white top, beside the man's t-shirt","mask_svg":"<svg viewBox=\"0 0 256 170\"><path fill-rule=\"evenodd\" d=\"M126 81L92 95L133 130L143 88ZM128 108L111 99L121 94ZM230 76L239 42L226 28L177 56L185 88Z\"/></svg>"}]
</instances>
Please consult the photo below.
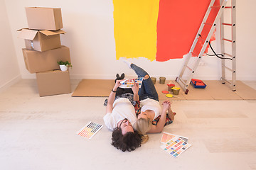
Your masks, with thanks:
<instances>
[{"instance_id":1,"label":"woman's white top, beside the man's t-shirt","mask_svg":"<svg viewBox=\"0 0 256 170\"><path fill-rule=\"evenodd\" d=\"M146 98L142 101L140 101L142 109L141 111L151 110L154 111L155 116L154 119L157 118L159 115L161 115L161 106L159 104L159 101L156 101L151 98Z\"/></svg>"}]
</instances>

